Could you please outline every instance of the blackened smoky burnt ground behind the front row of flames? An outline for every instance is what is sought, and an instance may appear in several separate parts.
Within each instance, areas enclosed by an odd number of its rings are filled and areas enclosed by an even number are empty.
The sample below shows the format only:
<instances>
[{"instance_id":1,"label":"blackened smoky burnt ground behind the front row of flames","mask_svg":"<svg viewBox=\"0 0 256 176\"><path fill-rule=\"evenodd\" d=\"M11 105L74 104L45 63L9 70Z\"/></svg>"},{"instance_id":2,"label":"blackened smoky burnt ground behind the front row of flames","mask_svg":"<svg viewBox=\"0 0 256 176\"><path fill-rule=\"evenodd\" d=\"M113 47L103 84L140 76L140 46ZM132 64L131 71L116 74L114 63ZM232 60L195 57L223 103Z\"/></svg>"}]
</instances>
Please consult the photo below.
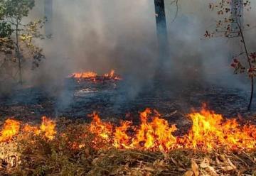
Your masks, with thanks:
<instances>
[{"instance_id":1,"label":"blackened smoky burnt ground behind the front row of flames","mask_svg":"<svg viewBox=\"0 0 256 176\"><path fill-rule=\"evenodd\" d=\"M0 116L1 119L15 116L30 122L39 121L41 116L90 121L87 114L98 111L102 119L114 122L126 119L137 123L138 112L150 107L183 128L189 126L186 114L192 108L200 109L206 102L210 109L226 117L240 114L244 119L256 121L256 104L252 104L252 111L246 111L249 92L240 89L199 81L167 84L157 80L144 84L140 92L131 96L127 87L129 84L124 81L77 84L73 79L67 79L61 91L49 92L42 87L17 89L0 98Z\"/></svg>"}]
</instances>

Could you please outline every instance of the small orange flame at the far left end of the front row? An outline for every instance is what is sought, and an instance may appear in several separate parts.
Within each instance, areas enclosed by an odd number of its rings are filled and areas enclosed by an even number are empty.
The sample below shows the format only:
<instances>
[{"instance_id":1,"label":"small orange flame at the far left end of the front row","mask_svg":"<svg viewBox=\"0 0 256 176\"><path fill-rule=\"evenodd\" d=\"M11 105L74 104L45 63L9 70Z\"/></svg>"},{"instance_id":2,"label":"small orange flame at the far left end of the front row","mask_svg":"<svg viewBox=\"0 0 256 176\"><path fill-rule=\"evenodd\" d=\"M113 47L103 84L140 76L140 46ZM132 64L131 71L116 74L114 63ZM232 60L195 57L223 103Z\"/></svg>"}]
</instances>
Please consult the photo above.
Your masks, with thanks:
<instances>
[{"instance_id":1,"label":"small orange flame at the far left end of the front row","mask_svg":"<svg viewBox=\"0 0 256 176\"><path fill-rule=\"evenodd\" d=\"M21 123L13 119L7 119L1 130L0 142L10 141L20 130Z\"/></svg>"}]
</instances>

